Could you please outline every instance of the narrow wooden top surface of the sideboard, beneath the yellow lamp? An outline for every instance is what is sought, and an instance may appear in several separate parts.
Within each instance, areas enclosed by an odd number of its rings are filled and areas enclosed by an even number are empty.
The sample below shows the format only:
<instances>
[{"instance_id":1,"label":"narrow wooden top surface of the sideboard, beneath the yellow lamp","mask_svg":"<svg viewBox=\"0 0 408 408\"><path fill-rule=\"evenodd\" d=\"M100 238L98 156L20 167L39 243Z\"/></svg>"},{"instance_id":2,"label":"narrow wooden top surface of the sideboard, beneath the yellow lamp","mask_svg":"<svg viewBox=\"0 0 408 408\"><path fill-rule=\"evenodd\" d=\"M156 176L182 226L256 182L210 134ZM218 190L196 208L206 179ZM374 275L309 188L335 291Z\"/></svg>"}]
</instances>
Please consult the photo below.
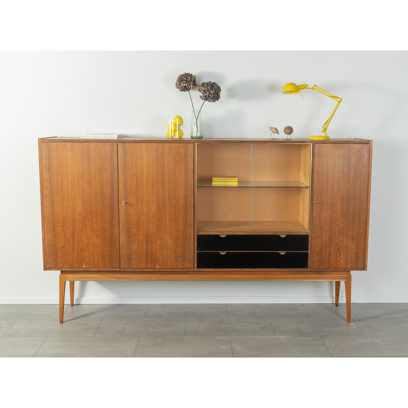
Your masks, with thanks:
<instances>
[{"instance_id":1,"label":"narrow wooden top surface of the sideboard, beneath the yellow lamp","mask_svg":"<svg viewBox=\"0 0 408 408\"><path fill-rule=\"evenodd\" d=\"M311 140L302 139L255 139L255 138L203 138L203 139L166 139L160 138L139 138L123 137L121 139L83 139L80 137L46 137L39 138L41 142L83 142L83 143L370 143L369 139L329 139L329 140Z\"/></svg>"}]
</instances>

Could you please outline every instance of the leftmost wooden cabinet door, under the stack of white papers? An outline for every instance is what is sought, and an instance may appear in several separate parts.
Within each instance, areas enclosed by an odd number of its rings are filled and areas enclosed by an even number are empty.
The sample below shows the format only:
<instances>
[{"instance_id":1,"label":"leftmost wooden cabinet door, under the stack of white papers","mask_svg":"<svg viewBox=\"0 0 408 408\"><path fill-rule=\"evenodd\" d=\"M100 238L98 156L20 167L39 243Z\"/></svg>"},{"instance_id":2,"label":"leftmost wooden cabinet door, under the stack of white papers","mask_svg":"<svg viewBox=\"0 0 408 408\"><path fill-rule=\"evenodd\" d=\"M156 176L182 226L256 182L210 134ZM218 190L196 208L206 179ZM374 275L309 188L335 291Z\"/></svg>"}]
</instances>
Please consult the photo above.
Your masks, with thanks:
<instances>
[{"instance_id":1,"label":"leftmost wooden cabinet door, under the stack of white papers","mask_svg":"<svg viewBox=\"0 0 408 408\"><path fill-rule=\"evenodd\" d=\"M118 268L116 143L40 143L44 269Z\"/></svg>"}]
</instances>

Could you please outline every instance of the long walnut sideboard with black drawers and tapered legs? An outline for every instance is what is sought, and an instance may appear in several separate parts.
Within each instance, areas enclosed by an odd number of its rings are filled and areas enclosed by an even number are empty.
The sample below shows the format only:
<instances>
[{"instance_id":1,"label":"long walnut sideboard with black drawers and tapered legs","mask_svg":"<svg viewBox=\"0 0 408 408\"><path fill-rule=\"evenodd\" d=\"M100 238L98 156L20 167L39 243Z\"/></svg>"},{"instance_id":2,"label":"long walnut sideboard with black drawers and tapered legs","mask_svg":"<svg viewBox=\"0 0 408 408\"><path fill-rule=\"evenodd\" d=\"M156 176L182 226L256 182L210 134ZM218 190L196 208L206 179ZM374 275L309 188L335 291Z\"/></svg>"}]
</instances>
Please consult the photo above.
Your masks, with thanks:
<instances>
[{"instance_id":1,"label":"long walnut sideboard with black drawers and tapered legs","mask_svg":"<svg viewBox=\"0 0 408 408\"><path fill-rule=\"evenodd\" d=\"M367 270L372 141L39 139L44 270L66 281L345 282ZM238 176L238 186L213 186Z\"/></svg>"}]
</instances>

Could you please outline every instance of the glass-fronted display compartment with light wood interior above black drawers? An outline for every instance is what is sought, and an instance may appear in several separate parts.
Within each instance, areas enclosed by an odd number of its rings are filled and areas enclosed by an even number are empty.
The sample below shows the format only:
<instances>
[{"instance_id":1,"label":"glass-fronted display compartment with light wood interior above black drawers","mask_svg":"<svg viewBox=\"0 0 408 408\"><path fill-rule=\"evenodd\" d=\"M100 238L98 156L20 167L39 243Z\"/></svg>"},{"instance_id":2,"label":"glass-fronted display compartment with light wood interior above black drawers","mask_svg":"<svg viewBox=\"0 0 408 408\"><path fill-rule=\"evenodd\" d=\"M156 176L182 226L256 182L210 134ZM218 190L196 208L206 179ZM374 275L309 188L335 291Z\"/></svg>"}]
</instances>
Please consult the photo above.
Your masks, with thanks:
<instances>
[{"instance_id":1,"label":"glass-fronted display compartment with light wood interior above black drawers","mask_svg":"<svg viewBox=\"0 0 408 408\"><path fill-rule=\"evenodd\" d=\"M198 143L198 233L308 232L311 144ZM233 176L237 185L214 185Z\"/></svg>"}]
</instances>

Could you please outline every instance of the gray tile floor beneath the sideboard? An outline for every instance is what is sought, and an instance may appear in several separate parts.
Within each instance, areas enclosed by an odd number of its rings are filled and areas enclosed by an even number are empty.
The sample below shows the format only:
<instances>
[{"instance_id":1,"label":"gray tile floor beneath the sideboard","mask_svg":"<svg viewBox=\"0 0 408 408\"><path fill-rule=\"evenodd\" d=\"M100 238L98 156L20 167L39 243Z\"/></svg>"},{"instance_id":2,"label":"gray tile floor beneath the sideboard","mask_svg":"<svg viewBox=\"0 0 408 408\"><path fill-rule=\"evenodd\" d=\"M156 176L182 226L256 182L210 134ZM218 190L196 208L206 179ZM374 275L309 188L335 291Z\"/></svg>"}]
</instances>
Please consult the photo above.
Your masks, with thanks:
<instances>
[{"instance_id":1,"label":"gray tile floor beneath the sideboard","mask_svg":"<svg viewBox=\"0 0 408 408\"><path fill-rule=\"evenodd\" d=\"M408 303L0 304L0 357L405 357Z\"/></svg>"}]
</instances>

